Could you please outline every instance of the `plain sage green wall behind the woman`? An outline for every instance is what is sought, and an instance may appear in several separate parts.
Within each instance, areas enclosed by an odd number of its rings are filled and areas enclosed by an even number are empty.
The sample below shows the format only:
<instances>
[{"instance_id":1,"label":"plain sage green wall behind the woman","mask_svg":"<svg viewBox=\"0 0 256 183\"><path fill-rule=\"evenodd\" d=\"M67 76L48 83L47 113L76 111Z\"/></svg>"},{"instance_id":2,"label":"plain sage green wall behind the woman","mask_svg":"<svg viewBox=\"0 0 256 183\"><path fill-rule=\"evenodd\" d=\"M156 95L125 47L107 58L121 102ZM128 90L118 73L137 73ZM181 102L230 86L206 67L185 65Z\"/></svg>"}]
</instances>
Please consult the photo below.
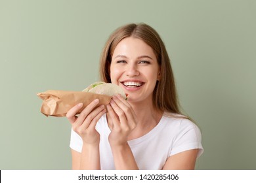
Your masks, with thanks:
<instances>
[{"instance_id":1,"label":"plain sage green wall behind the woman","mask_svg":"<svg viewBox=\"0 0 256 183\"><path fill-rule=\"evenodd\" d=\"M37 92L83 90L120 25L160 33L181 105L202 129L196 169L256 169L256 1L0 0L0 169L71 169L70 124Z\"/></svg>"}]
</instances>

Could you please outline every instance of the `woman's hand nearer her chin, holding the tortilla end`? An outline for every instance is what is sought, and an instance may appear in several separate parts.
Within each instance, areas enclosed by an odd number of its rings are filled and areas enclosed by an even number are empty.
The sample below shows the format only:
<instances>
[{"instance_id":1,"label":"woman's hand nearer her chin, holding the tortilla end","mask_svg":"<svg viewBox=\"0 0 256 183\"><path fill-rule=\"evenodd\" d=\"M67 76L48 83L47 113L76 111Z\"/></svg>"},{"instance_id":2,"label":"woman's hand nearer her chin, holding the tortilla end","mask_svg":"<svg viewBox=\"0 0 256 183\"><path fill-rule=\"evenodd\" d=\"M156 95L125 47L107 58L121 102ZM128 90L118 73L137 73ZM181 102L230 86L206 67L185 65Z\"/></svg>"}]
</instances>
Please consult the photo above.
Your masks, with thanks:
<instances>
[{"instance_id":1,"label":"woman's hand nearer her chin, holding the tortilla end","mask_svg":"<svg viewBox=\"0 0 256 183\"><path fill-rule=\"evenodd\" d=\"M133 108L121 95L112 97L110 104L106 107L112 121L112 131L108 137L110 146L127 144L129 134L137 125Z\"/></svg>"}]
</instances>

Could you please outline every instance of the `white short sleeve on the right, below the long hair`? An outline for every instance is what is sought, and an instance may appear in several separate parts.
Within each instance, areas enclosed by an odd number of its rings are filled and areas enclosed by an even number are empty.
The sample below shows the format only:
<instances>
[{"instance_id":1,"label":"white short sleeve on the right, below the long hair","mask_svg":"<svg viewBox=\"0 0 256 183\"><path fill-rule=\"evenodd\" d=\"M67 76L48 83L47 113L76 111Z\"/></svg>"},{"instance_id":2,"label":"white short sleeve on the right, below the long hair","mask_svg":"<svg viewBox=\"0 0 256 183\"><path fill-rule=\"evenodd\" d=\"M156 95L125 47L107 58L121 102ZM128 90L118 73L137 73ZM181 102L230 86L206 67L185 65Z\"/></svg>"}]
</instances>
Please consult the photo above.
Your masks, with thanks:
<instances>
[{"instance_id":1,"label":"white short sleeve on the right, below the long hair","mask_svg":"<svg viewBox=\"0 0 256 183\"><path fill-rule=\"evenodd\" d=\"M192 149L199 149L198 157L202 155L201 131L198 126L190 120L182 120L180 122L179 131L177 131L177 135L175 139L173 139L169 156Z\"/></svg>"}]
</instances>

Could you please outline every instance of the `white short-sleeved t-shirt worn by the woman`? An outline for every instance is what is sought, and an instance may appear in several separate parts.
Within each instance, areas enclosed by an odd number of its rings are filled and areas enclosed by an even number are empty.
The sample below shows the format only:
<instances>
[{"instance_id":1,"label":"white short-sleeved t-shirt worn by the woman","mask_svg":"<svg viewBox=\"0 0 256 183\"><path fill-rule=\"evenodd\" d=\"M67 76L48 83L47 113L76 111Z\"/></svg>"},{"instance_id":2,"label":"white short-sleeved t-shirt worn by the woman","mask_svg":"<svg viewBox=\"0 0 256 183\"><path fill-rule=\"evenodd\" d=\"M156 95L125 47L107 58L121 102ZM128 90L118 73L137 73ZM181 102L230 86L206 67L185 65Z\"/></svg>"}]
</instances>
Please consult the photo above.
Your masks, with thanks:
<instances>
[{"instance_id":1,"label":"white short-sleeved t-shirt worn by the woman","mask_svg":"<svg viewBox=\"0 0 256 183\"><path fill-rule=\"evenodd\" d=\"M106 114L96 124L100 133L100 167L115 169L112 150L108 142L110 128ZM169 156L198 148L198 157L203 153L201 132L198 126L184 118L163 115L160 122L146 135L128 141L139 169L162 169ZM83 142L72 129L70 148L81 152Z\"/></svg>"}]
</instances>

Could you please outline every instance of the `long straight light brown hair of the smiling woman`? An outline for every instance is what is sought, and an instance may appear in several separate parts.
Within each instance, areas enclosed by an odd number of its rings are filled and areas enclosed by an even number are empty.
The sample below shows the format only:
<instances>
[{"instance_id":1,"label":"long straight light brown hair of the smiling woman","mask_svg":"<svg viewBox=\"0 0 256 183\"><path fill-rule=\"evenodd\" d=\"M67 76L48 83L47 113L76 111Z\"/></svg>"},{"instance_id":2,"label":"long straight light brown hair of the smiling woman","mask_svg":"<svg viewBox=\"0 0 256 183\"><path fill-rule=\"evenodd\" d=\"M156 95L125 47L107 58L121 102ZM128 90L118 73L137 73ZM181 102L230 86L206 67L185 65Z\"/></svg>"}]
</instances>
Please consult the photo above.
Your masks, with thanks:
<instances>
[{"instance_id":1,"label":"long straight light brown hair of the smiling woman","mask_svg":"<svg viewBox=\"0 0 256 183\"><path fill-rule=\"evenodd\" d=\"M106 42L100 58L100 79L111 82L110 64L117 44L126 37L140 39L151 46L158 59L161 78L153 93L153 105L161 112L181 114L179 100L175 87L175 79L165 45L160 35L146 24L127 24L114 31Z\"/></svg>"}]
</instances>

